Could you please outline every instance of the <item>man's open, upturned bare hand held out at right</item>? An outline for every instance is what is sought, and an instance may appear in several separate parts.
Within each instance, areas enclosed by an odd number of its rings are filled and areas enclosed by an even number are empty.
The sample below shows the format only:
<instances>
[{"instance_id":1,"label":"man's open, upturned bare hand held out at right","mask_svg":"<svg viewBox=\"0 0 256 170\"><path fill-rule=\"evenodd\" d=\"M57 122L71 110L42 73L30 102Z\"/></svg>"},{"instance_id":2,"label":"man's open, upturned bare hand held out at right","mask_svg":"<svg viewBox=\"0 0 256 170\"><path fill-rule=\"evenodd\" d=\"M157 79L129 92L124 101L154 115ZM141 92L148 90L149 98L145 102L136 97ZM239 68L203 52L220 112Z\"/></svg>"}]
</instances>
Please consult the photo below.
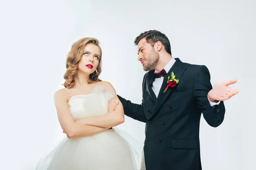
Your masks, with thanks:
<instances>
[{"instance_id":1,"label":"man's open, upturned bare hand held out at right","mask_svg":"<svg viewBox=\"0 0 256 170\"><path fill-rule=\"evenodd\" d=\"M236 79L218 83L212 88L212 90L209 91L209 100L211 102L218 102L230 99L232 96L235 96L239 91L228 87L228 85L235 83Z\"/></svg>"}]
</instances>

